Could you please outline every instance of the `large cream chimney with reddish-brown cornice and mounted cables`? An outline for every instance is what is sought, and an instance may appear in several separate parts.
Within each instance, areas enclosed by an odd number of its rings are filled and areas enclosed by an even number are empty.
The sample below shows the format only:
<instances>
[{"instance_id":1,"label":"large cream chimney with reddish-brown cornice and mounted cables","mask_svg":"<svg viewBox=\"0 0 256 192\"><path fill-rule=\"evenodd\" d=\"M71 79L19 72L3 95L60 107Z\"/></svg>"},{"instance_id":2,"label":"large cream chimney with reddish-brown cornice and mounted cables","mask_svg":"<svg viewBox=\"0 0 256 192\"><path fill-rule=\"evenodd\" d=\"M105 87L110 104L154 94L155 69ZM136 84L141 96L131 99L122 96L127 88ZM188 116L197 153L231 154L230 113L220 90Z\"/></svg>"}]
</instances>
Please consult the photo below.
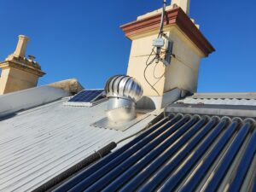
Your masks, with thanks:
<instances>
[{"instance_id":1,"label":"large cream chimney with reddish-brown cornice and mounted cables","mask_svg":"<svg viewBox=\"0 0 256 192\"><path fill-rule=\"evenodd\" d=\"M173 8L174 3L180 7ZM132 42L127 75L142 84L143 99L153 100L155 108L164 108L165 103L171 102L168 93L176 88L196 92L201 58L214 51L187 15L189 0L173 0L172 5L166 7L164 46L160 50L162 60L167 58L168 65L153 61L156 56L156 49L152 51L153 41L162 46L161 41L155 41L160 33L162 9L138 16L137 20L120 26Z\"/></svg>"}]
</instances>

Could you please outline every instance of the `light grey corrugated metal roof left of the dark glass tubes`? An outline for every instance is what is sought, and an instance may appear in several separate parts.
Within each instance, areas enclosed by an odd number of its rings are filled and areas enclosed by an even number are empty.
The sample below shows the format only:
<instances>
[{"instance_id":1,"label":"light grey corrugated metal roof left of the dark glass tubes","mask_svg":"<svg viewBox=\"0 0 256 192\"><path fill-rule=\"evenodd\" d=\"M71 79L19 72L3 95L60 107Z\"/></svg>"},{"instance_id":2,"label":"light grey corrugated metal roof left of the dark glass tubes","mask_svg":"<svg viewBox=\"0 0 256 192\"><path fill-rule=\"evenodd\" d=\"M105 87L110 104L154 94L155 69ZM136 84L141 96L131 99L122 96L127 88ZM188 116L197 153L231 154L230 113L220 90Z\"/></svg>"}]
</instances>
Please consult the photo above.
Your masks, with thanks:
<instances>
[{"instance_id":1,"label":"light grey corrugated metal roof left of the dark glass tubes","mask_svg":"<svg viewBox=\"0 0 256 192\"><path fill-rule=\"evenodd\" d=\"M67 99L66 99L67 100ZM91 127L107 103L92 108L58 101L0 120L0 191L30 191L110 142L143 129L149 115L127 131Z\"/></svg>"}]
</instances>

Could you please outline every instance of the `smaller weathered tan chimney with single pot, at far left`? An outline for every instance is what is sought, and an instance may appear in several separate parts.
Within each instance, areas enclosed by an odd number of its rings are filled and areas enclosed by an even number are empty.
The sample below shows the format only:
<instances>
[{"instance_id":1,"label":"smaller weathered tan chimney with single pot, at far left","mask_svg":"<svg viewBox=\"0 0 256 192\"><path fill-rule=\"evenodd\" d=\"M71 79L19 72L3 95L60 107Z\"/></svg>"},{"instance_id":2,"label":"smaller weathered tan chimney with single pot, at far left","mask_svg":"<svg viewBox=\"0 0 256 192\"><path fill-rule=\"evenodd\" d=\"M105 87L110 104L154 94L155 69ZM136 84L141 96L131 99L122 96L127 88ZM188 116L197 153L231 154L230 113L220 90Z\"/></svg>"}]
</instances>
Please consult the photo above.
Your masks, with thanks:
<instances>
[{"instance_id":1,"label":"smaller weathered tan chimney with single pot, at far left","mask_svg":"<svg viewBox=\"0 0 256 192\"><path fill-rule=\"evenodd\" d=\"M15 52L5 61L0 62L0 68L2 68L0 95L35 87L38 84L38 78L45 74L38 62L33 61L34 56L30 55L29 59L26 58L28 41L29 38L20 35Z\"/></svg>"}]
</instances>

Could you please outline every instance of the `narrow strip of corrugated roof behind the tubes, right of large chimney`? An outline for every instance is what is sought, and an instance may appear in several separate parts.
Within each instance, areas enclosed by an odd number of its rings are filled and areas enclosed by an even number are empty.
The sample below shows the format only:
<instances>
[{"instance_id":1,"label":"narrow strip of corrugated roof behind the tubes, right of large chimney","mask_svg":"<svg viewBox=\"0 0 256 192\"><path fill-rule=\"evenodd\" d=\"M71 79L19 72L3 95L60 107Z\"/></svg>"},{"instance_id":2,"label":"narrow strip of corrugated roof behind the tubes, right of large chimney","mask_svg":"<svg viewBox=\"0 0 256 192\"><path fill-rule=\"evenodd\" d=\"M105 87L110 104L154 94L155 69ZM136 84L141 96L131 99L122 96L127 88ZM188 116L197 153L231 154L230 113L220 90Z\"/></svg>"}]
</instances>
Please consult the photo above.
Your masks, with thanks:
<instances>
[{"instance_id":1,"label":"narrow strip of corrugated roof behind the tubes, right of large chimney","mask_svg":"<svg viewBox=\"0 0 256 192\"><path fill-rule=\"evenodd\" d=\"M256 106L256 93L197 93L176 103Z\"/></svg>"}]
</instances>

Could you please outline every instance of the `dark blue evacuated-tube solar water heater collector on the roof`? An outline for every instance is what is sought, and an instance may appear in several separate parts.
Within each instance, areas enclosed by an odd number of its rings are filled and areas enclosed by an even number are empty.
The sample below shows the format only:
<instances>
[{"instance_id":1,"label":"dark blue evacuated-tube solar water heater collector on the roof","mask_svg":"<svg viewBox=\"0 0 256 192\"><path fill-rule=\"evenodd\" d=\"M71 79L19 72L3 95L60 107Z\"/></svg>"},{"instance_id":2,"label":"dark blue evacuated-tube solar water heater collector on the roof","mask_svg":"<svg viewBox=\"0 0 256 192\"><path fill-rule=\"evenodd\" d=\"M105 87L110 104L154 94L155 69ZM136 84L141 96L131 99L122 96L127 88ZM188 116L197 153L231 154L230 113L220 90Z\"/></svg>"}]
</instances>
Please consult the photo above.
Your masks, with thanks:
<instances>
[{"instance_id":1,"label":"dark blue evacuated-tube solar water heater collector on the roof","mask_svg":"<svg viewBox=\"0 0 256 192\"><path fill-rule=\"evenodd\" d=\"M171 114L55 191L250 191L255 154L253 119Z\"/></svg>"}]
</instances>

